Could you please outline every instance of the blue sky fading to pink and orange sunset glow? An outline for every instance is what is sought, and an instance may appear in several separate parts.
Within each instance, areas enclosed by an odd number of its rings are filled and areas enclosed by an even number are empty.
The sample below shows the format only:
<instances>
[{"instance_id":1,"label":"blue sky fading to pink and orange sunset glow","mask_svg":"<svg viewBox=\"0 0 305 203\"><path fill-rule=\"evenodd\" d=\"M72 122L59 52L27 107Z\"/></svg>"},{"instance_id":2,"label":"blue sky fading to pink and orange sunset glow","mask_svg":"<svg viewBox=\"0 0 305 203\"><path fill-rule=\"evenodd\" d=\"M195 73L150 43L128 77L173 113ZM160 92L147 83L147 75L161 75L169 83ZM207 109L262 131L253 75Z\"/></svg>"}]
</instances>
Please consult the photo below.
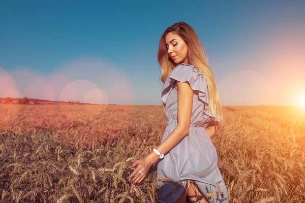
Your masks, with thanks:
<instances>
[{"instance_id":1,"label":"blue sky fading to pink and orange sunset glow","mask_svg":"<svg viewBox=\"0 0 305 203\"><path fill-rule=\"evenodd\" d=\"M161 105L163 31L190 24L222 105L305 106L305 1L1 1L0 97Z\"/></svg>"}]
</instances>

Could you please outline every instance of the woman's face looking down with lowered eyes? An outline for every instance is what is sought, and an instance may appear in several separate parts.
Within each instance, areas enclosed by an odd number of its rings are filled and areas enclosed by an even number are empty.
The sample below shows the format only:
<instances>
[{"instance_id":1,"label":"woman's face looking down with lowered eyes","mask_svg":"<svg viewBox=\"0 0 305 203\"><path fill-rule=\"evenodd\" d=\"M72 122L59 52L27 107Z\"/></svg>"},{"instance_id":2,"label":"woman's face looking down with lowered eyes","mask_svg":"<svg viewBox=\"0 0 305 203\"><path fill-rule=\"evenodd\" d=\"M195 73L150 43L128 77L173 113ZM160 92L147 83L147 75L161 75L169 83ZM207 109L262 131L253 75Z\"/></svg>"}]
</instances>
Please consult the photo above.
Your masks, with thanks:
<instances>
[{"instance_id":1,"label":"woman's face looking down with lowered eyes","mask_svg":"<svg viewBox=\"0 0 305 203\"><path fill-rule=\"evenodd\" d=\"M165 43L169 57L176 63L188 63L188 45L173 32L165 36Z\"/></svg>"}]
</instances>

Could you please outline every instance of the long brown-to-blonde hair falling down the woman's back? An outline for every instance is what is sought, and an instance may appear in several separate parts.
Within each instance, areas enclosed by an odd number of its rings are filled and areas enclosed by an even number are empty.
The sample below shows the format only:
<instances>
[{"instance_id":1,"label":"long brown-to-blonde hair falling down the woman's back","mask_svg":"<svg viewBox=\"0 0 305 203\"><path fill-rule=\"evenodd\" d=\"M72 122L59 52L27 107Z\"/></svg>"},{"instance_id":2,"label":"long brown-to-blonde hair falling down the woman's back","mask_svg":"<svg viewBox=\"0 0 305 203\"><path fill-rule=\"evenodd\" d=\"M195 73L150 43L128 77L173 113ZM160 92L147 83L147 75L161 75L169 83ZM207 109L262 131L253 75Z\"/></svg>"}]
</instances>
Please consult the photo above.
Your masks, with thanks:
<instances>
[{"instance_id":1,"label":"long brown-to-blonde hair falling down the woman's back","mask_svg":"<svg viewBox=\"0 0 305 203\"><path fill-rule=\"evenodd\" d=\"M221 126L223 124L221 102L217 93L214 75L210 69L208 61L206 60L205 47L201 44L195 30L185 22L177 22L173 24L168 27L161 36L157 56L161 67L160 80L164 84L171 71L177 66L167 53L165 37L169 32L178 35L188 45L188 63L196 67L196 69L204 75L208 87L208 111L217 118L218 123L215 122L215 124ZM165 105L163 104L162 106L165 115Z\"/></svg>"}]
</instances>

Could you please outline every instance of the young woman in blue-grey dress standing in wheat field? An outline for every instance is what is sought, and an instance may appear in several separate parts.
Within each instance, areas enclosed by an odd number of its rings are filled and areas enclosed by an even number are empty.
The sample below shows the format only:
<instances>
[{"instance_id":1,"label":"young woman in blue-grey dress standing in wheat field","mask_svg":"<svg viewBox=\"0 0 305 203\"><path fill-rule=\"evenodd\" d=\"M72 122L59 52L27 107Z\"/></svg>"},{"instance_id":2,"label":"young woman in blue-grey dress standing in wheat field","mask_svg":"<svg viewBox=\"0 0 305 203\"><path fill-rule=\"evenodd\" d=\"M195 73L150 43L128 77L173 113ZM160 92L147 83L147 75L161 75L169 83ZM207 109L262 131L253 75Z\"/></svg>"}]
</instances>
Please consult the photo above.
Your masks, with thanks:
<instances>
[{"instance_id":1,"label":"young woman in blue-grey dress standing in wheat field","mask_svg":"<svg viewBox=\"0 0 305 203\"><path fill-rule=\"evenodd\" d=\"M143 181L158 161L159 201L227 202L217 152L210 140L223 122L221 103L194 29L184 22L168 27L160 39L158 61L167 127L161 144L131 165L137 166L131 183Z\"/></svg>"}]
</instances>

